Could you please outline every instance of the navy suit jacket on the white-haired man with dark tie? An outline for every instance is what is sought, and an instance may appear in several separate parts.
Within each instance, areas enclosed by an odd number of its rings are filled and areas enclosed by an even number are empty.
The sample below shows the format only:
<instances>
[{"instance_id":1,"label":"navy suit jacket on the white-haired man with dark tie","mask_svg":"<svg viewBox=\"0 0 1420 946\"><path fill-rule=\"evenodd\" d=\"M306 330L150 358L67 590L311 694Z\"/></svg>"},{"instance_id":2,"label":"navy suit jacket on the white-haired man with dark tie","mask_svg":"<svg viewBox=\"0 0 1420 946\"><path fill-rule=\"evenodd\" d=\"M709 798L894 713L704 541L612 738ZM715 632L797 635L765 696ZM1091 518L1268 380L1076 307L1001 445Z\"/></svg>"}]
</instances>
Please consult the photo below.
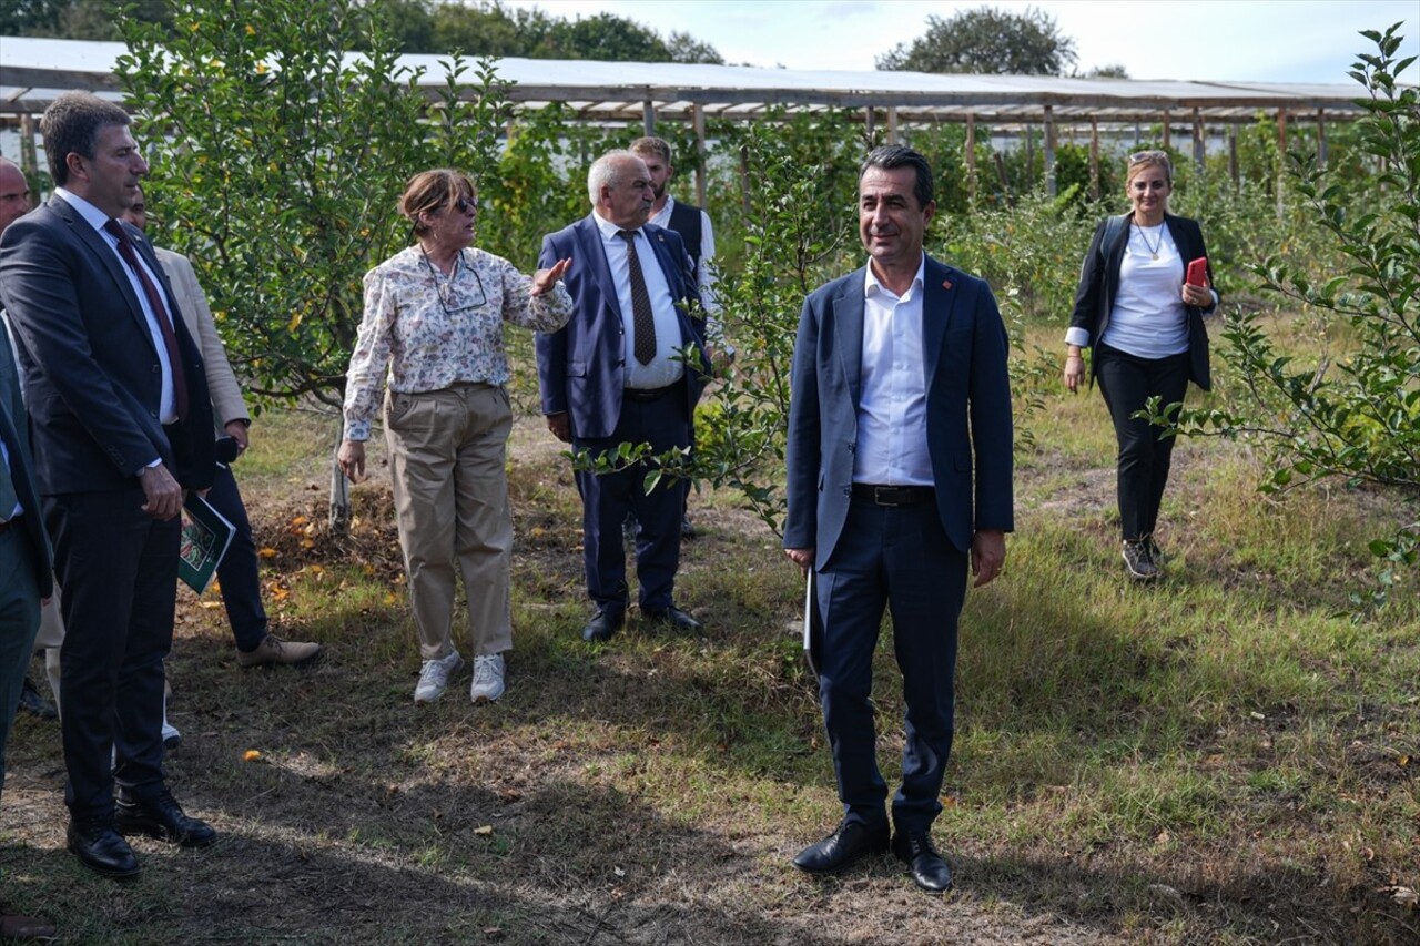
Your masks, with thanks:
<instances>
[{"instance_id":1,"label":"navy suit jacket on the white-haired man with dark tie","mask_svg":"<svg viewBox=\"0 0 1420 946\"><path fill-rule=\"evenodd\" d=\"M643 229L656 253L656 263L666 274L670 298L677 300L682 341L677 348L694 347L700 352L700 364L709 368L704 320L690 318L686 305L679 303L700 301L684 244L673 230L650 223ZM558 331L537 335L542 413L571 412L572 437L578 440L609 437L621 418L622 389L626 386L622 376L626 341L616 284L592 214L542 239L538 268L565 259L572 260L562 277L572 294L572 317ZM686 365L687 419L694 412L704 382L699 371Z\"/></svg>"}]
</instances>

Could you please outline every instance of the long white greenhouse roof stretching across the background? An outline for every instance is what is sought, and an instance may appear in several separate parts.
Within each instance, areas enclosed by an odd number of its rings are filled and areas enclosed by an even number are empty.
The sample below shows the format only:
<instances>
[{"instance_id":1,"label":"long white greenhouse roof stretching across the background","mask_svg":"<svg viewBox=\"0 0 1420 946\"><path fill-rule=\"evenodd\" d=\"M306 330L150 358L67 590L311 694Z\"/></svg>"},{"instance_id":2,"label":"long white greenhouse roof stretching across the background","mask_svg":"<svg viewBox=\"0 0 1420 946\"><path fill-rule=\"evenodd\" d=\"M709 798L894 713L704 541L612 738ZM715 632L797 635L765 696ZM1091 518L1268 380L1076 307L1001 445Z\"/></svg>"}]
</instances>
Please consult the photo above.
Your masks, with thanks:
<instances>
[{"instance_id":1,"label":"long white greenhouse roof stretching across the background","mask_svg":"<svg viewBox=\"0 0 1420 946\"><path fill-rule=\"evenodd\" d=\"M0 115L38 114L64 89L118 97L114 67L122 43L0 37ZM443 87L447 55L403 55L425 70L422 84ZM471 71L470 71L471 74ZM1198 116L1208 122L1251 121L1258 109L1292 116L1345 119L1359 109L1356 82L1187 82L1172 80L1059 78L1051 75L937 75L768 70L738 65L599 62L591 60L497 61L508 97L528 107L567 102L599 119L683 119L696 108L707 118L753 118L770 107L892 109L897 121L1136 122Z\"/></svg>"}]
</instances>

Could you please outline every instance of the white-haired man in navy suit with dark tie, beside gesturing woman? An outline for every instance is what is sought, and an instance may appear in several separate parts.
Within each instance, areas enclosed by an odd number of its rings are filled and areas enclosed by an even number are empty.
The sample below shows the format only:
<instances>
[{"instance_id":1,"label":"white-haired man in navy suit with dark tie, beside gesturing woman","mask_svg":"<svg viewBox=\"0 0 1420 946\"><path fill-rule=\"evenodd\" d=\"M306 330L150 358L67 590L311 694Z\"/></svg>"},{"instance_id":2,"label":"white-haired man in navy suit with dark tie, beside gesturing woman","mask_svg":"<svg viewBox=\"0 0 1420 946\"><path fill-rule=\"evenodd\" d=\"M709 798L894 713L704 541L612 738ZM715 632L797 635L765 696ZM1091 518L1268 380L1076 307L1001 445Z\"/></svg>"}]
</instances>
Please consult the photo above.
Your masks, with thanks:
<instances>
[{"instance_id":1,"label":"white-haired man in navy suit with dark tie, beside gesturing woman","mask_svg":"<svg viewBox=\"0 0 1420 946\"><path fill-rule=\"evenodd\" d=\"M548 429L592 456L621 443L656 453L684 450L709 366L704 322L684 244L646 223L655 199L646 163L628 151L598 158L588 173L592 213L542 240L538 266L574 259L567 288L572 318L537 337L538 379ZM640 523L636 578L642 616L682 631L700 624L674 605L680 565L680 483L643 489L636 463L602 474L581 472L582 555L596 614L582 638L606 641L625 624L628 604L622 523Z\"/></svg>"}]
</instances>

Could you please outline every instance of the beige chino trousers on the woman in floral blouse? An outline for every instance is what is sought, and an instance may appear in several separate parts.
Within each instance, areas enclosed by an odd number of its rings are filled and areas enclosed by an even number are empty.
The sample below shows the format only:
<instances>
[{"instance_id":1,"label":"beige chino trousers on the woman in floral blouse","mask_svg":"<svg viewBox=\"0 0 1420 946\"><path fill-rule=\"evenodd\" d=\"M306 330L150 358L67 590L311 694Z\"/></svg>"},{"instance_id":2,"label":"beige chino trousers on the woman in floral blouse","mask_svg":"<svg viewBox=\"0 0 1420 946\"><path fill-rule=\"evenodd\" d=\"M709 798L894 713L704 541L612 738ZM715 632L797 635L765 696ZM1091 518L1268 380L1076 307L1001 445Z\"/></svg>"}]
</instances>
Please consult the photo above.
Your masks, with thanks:
<instances>
[{"instance_id":1,"label":"beige chino trousers on the woman in floral blouse","mask_svg":"<svg viewBox=\"0 0 1420 946\"><path fill-rule=\"evenodd\" d=\"M395 516L423 660L454 649L454 561L469 595L473 655L513 648L511 430L508 393L494 385L385 395Z\"/></svg>"}]
</instances>

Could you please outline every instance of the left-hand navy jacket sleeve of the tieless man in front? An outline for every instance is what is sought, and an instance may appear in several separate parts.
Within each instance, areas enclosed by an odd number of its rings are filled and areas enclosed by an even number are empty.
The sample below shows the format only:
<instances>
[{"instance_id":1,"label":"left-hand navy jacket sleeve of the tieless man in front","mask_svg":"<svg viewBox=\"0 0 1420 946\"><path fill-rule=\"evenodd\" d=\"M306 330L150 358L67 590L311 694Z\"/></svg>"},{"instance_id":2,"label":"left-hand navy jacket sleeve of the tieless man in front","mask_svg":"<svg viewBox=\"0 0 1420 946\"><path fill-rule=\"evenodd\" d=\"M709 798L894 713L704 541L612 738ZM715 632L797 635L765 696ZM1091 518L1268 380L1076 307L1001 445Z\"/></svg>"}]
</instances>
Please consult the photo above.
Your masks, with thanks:
<instances>
[{"instance_id":1,"label":"left-hand navy jacket sleeve of the tieless man in front","mask_svg":"<svg viewBox=\"0 0 1420 946\"><path fill-rule=\"evenodd\" d=\"M814 548L818 544L818 472L822 466L822 415L818 403L819 318L811 295L804 300L794 365L790 374L790 432L785 447L785 548ZM826 305L826 303L822 303Z\"/></svg>"}]
</instances>

